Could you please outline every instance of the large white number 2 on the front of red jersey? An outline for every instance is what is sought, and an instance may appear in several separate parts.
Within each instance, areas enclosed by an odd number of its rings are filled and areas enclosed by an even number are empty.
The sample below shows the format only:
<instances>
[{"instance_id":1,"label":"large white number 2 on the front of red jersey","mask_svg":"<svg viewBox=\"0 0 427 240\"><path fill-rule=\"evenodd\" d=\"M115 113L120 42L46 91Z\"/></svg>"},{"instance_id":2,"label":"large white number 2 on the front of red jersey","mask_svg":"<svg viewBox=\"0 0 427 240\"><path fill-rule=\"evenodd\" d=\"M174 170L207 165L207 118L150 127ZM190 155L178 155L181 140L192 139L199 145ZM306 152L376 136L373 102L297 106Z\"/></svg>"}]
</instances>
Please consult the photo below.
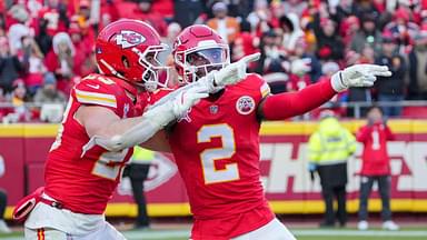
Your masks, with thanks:
<instances>
[{"instance_id":1,"label":"large white number 2 on the front of red jersey","mask_svg":"<svg viewBox=\"0 0 427 240\"><path fill-rule=\"evenodd\" d=\"M236 152L235 133L230 126L210 124L202 126L197 132L197 142L211 142L212 138L220 138L220 148L206 149L200 153L201 167L205 177L205 184L238 180L239 169L237 163L228 163L225 169L217 169L217 160L229 159Z\"/></svg>"}]
</instances>

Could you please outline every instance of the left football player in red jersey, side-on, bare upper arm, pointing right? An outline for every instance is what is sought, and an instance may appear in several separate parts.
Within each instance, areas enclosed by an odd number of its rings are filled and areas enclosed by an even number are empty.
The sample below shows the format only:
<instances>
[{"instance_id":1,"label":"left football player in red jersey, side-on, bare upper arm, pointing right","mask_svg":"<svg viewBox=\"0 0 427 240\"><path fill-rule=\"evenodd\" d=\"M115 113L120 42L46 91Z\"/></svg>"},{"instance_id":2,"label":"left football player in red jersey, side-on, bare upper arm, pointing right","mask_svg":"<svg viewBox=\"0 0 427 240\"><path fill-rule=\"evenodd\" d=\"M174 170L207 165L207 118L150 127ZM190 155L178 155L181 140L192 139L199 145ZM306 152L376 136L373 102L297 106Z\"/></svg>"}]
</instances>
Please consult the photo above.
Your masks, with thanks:
<instances>
[{"instance_id":1,"label":"left football player in red jersey, side-on, bare upper arm, pointing right","mask_svg":"<svg viewBox=\"0 0 427 240\"><path fill-rule=\"evenodd\" d=\"M170 93L169 101L142 114L136 108L137 96L162 86L157 77L163 67L157 56L165 48L142 21L119 20L99 33L96 54L101 74L89 74L73 87L46 162L46 187L14 209L17 220L27 218L26 239L125 239L105 221L103 212L132 147L156 149L155 133L208 97L209 88L245 76L245 69L231 66Z\"/></svg>"}]
</instances>

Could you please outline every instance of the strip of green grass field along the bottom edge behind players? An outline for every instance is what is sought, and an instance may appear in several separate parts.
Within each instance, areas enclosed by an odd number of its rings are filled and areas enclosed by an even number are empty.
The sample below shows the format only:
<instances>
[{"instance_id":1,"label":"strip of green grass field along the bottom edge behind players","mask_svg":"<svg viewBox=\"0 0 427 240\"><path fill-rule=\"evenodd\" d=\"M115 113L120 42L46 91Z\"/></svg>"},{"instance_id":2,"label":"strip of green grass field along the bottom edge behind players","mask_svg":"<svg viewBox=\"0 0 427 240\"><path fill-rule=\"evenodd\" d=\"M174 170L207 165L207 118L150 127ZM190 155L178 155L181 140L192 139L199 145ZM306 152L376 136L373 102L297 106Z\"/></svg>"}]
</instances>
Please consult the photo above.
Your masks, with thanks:
<instances>
[{"instance_id":1,"label":"strip of green grass field along the bottom edge behind players","mask_svg":"<svg viewBox=\"0 0 427 240\"><path fill-rule=\"evenodd\" d=\"M292 229L294 234L298 240L426 240L426 228L408 228L400 231L383 231L369 230L357 231L351 228L347 229ZM129 240L188 240L189 230L167 230L153 229L142 231L123 231L123 234ZM23 239L22 232L11 234L0 234L3 240Z\"/></svg>"}]
</instances>

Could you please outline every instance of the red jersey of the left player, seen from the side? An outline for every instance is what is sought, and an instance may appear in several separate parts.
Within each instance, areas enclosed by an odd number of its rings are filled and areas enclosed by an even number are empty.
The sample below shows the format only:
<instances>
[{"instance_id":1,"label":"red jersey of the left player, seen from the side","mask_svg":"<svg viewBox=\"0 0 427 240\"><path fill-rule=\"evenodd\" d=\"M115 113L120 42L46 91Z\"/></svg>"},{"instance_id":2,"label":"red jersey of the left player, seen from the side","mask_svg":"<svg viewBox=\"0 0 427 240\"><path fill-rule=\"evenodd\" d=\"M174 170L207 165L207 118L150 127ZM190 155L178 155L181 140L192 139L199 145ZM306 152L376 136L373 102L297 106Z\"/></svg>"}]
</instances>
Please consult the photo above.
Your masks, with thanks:
<instances>
[{"instance_id":1,"label":"red jersey of the left player, seen from the side","mask_svg":"<svg viewBox=\"0 0 427 240\"><path fill-rule=\"evenodd\" d=\"M118 84L119 81L90 74L75 86L57 139L48 154L46 193L73 212L103 213L120 181L125 162L132 154L133 149L109 152L99 146L83 150L90 139L85 128L73 118L82 104L108 108L120 118L133 117L135 103ZM117 163L103 163L108 160Z\"/></svg>"}]
</instances>

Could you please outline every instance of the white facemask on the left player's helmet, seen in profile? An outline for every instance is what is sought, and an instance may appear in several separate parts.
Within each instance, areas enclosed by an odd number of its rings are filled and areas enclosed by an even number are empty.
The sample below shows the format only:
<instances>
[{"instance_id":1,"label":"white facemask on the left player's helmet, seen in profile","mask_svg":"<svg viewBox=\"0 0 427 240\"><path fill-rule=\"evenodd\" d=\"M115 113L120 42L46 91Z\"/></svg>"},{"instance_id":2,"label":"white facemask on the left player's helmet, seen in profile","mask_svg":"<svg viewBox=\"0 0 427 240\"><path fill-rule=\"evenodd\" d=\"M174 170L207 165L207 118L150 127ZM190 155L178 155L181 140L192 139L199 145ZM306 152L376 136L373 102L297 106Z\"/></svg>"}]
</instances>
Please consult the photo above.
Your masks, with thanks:
<instances>
[{"instance_id":1,"label":"white facemask on the left player's helmet, seen in profile","mask_svg":"<svg viewBox=\"0 0 427 240\"><path fill-rule=\"evenodd\" d=\"M168 49L167 44L150 46L143 52L138 48L132 48L132 52L138 54L138 63L142 66L145 71L141 76L141 82L147 91L155 91L158 88L168 88L169 67L165 67L158 59L159 53ZM162 73L166 74L162 76ZM163 80L159 78L165 77Z\"/></svg>"}]
</instances>

